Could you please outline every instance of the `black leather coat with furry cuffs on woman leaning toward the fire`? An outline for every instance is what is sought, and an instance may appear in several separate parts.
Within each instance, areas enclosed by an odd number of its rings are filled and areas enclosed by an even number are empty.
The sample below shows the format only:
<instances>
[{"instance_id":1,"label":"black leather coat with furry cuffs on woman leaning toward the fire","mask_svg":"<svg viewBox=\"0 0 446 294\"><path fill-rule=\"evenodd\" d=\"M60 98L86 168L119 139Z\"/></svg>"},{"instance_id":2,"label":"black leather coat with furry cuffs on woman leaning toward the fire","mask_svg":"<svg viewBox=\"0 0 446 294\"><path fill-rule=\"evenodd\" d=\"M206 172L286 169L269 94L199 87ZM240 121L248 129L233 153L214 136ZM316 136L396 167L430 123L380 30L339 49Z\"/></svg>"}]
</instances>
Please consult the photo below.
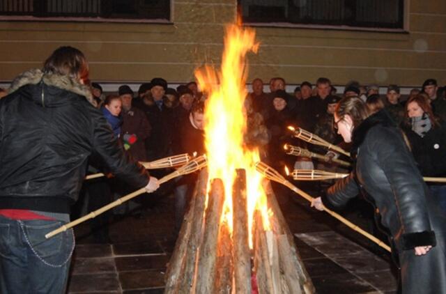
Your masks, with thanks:
<instances>
[{"instance_id":1,"label":"black leather coat with furry cuffs on woman leaning toward the fire","mask_svg":"<svg viewBox=\"0 0 446 294\"><path fill-rule=\"evenodd\" d=\"M369 116L355 128L352 141L355 170L330 187L324 205L344 206L362 187L400 250L435 245L426 185L392 118L385 111Z\"/></svg>"}]
</instances>

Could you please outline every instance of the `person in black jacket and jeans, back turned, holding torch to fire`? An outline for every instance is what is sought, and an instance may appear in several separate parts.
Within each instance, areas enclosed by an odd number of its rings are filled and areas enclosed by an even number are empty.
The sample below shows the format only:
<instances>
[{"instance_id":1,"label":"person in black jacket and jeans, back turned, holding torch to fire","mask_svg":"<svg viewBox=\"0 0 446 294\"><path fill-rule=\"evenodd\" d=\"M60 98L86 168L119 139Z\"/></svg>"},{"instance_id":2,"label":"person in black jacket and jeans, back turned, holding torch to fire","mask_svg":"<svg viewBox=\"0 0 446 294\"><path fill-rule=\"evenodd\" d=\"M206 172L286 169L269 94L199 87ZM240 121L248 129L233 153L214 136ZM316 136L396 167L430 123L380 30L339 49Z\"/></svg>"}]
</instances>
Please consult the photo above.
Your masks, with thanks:
<instances>
[{"instance_id":1,"label":"person in black jacket and jeans, back turned, holding torch to fire","mask_svg":"<svg viewBox=\"0 0 446 294\"><path fill-rule=\"evenodd\" d=\"M159 187L125 157L86 77L82 52L60 47L0 100L0 293L65 292L72 229L45 234L69 222L89 157L134 189Z\"/></svg>"}]
</instances>

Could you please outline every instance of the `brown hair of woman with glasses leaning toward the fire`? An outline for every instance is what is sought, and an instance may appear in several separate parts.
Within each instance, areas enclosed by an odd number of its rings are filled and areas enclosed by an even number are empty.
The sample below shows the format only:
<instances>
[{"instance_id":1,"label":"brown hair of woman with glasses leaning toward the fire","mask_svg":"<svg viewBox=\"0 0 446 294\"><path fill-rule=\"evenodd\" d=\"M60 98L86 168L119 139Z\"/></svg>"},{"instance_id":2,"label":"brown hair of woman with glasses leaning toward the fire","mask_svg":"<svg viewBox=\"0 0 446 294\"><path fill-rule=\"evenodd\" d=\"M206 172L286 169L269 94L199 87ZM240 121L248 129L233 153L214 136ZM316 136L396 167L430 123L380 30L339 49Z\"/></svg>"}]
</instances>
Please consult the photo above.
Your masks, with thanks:
<instances>
[{"instance_id":1,"label":"brown hair of woman with glasses leaning toward the fire","mask_svg":"<svg viewBox=\"0 0 446 294\"><path fill-rule=\"evenodd\" d=\"M353 127L357 127L370 116L370 111L364 101L356 96L342 98L337 104L336 116L344 118L347 114L353 121Z\"/></svg>"}]
</instances>

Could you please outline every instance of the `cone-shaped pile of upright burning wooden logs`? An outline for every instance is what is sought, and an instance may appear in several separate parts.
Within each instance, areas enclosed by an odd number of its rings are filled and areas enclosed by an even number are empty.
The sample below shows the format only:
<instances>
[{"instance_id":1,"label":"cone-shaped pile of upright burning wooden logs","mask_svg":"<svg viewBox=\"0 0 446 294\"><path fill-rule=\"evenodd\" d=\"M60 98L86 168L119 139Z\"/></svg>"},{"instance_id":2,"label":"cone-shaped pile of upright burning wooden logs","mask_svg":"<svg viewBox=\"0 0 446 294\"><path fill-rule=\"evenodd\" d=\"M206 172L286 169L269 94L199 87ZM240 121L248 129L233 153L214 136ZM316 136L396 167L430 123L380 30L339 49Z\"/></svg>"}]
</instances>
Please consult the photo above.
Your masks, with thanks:
<instances>
[{"instance_id":1,"label":"cone-shaped pile of upright burning wooden logs","mask_svg":"<svg viewBox=\"0 0 446 294\"><path fill-rule=\"evenodd\" d=\"M233 187L233 228L224 221L222 180L203 169L166 274L164 293L314 293L275 195L266 181L271 229L254 213L249 249L245 171ZM206 194L208 199L206 200Z\"/></svg>"}]
</instances>

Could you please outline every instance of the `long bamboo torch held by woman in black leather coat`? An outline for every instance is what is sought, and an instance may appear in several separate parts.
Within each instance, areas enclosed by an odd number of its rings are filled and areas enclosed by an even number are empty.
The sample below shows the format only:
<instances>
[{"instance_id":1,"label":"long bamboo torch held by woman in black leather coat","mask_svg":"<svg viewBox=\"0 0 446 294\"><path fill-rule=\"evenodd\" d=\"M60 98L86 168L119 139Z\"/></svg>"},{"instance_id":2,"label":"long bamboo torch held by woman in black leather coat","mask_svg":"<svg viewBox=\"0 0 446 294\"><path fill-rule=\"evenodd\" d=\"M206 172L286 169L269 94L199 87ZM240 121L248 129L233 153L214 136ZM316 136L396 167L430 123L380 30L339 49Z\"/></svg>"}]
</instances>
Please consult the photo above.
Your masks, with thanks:
<instances>
[{"instance_id":1,"label":"long bamboo torch held by woman in black leather coat","mask_svg":"<svg viewBox=\"0 0 446 294\"><path fill-rule=\"evenodd\" d=\"M294 192L296 192L297 194L302 196L304 199L306 199L310 203L313 201L312 196L303 192L298 187L295 187L295 185L291 184L288 180L285 180L285 178L280 173L278 173L275 169L272 169L272 167L269 167L267 164L265 164L263 162L258 162L256 164L256 170L259 171L260 173L262 173L264 176L266 176L266 178L269 178L270 180L274 180L277 183L281 183L282 185L289 187L289 189L293 190ZM329 210L325 206L324 206L324 210L326 212L328 212L332 217L334 217L334 218L338 219L339 221L341 221L342 223L346 224L346 226L348 226L349 228L353 229L354 231L357 231L361 235L364 235L364 237L369 238L369 240L375 242L380 247L383 247L388 252L391 252L390 247L387 246L383 241L376 238L374 235L367 233L366 231L362 230L359 226L353 224L352 222L348 221L344 217L341 217L341 215L338 215L336 212Z\"/></svg>"}]
</instances>

